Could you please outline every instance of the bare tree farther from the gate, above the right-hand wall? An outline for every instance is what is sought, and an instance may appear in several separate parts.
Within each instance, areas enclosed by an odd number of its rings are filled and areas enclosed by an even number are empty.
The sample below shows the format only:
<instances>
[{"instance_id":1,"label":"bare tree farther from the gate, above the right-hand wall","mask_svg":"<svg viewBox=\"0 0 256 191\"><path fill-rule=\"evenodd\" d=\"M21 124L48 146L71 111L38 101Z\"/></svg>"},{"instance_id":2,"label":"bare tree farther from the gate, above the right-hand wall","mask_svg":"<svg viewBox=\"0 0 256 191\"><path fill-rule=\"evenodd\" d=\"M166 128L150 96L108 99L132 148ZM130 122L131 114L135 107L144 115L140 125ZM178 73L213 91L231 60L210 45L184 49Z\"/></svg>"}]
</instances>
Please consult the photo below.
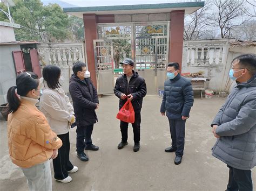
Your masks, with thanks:
<instances>
[{"instance_id":1,"label":"bare tree farther from the gate, above the right-hand wall","mask_svg":"<svg viewBox=\"0 0 256 191\"><path fill-rule=\"evenodd\" d=\"M246 22L242 17L244 3L244 0L214 0L214 5L218 9L215 23L220 28L221 38L232 37L232 29Z\"/></svg>"}]
</instances>

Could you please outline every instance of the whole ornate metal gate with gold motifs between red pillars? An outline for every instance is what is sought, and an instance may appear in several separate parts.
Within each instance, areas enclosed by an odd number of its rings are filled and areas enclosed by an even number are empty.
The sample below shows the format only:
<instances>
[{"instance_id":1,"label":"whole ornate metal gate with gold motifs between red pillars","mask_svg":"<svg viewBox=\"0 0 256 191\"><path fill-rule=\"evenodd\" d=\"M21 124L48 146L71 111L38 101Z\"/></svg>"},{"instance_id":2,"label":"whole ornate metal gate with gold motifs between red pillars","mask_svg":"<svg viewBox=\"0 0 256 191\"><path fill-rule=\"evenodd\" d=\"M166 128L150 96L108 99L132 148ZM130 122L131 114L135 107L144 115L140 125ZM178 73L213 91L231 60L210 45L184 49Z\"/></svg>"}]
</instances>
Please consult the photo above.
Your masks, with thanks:
<instances>
[{"instance_id":1,"label":"whole ornate metal gate with gold motifs between red pillars","mask_svg":"<svg viewBox=\"0 0 256 191\"><path fill-rule=\"evenodd\" d=\"M94 40L94 48L99 94L113 93L112 40L130 40L135 69L154 69L157 76L157 69L166 68L169 61L169 31L170 22L98 24L100 40Z\"/></svg>"}]
</instances>

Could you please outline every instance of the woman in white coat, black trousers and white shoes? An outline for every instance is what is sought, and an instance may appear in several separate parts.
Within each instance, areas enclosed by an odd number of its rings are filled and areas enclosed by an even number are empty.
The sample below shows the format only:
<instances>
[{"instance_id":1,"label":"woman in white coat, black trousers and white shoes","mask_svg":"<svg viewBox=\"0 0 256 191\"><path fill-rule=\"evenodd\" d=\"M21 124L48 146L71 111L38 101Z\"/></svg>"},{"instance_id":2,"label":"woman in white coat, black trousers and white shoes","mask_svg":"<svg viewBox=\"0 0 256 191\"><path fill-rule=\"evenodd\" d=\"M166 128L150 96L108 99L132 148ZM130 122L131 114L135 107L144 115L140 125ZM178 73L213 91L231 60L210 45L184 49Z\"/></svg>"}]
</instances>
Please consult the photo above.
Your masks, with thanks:
<instances>
[{"instance_id":1,"label":"woman in white coat, black trousers and white shoes","mask_svg":"<svg viewBox=\"0 0 256 191\"><path fill-rule=\"evenodd\" d=\"M69 160L70 125L75 122L74 110L69 97L60 88L61 70L57 66L48 65L43 69L43 95L40 98L40 110L44 113L48 122L63 145L58 150L58 157L53 159L54 178L57 181L68 183L72 178L68 173L75 173L78 167L73 166Z\"/></svg>"}]
</instances>

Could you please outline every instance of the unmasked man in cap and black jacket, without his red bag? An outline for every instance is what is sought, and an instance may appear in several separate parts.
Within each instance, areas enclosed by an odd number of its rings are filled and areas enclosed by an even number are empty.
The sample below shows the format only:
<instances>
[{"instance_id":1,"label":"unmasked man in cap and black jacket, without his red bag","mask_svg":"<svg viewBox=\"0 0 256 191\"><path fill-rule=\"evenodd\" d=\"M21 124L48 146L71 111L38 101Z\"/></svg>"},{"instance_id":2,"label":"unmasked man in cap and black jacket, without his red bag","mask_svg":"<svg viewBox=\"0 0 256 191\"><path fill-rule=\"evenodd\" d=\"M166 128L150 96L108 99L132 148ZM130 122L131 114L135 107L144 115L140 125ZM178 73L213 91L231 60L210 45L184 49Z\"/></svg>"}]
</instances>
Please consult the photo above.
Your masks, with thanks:
<instances>
[{"instance_id":1,"label":"unmasked man in cap and black jacket, without his red bag","mask_svg":"<svg viewBox=\"0 0 256 191\"><path fill-rule=\"evenodd\" d=\"M134 62L132 59L126 58L120 64L123 65L124 74L118 77L116 86L114 87L114 94L120 99L119 110L123 107L127 99L131 100L135 112L135 121L132 123L134 135L133 151L137 152L140 147L140 111L142 110L143 97L147 93L146 82L143 77L140 77L137 72L134 72ZM128 144L128 125L129 123L120 121L122 142L118 144L118 149L122 149Z\"/></svg>"}]
</instances>

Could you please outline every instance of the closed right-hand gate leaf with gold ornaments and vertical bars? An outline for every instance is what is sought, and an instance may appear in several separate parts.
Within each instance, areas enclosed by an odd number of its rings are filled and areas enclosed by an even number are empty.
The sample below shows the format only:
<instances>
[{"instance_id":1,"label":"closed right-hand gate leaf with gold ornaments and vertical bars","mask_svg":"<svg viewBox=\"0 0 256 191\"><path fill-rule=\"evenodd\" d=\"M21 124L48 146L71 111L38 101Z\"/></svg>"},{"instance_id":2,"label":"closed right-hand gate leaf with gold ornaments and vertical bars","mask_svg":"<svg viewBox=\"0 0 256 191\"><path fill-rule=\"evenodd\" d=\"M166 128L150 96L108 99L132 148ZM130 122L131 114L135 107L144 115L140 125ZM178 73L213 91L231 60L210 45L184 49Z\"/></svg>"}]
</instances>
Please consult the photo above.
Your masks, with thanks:
<instances>
[{"instance_id":1,"label":"closed right-hand gate leaf with gold ornaments and vertical bars","mask_svg":"<svg viewBox=\"0 0 256 191\"><path fill-rule=\"evenodd\" d=\"M136 24L137 69L165 68L169 56L169 22Z\"/></svg>"}]
</instances>

